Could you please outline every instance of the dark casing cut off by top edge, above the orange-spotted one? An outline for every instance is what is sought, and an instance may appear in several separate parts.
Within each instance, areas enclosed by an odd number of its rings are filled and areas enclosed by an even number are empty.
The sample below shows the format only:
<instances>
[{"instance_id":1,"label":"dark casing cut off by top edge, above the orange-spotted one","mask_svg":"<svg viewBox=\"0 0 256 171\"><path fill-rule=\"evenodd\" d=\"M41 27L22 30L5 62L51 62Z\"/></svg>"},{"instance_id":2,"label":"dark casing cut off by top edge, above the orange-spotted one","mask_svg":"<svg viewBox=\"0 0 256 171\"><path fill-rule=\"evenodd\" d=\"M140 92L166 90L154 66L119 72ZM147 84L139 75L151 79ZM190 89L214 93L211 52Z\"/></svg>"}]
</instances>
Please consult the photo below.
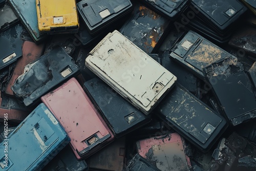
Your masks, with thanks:
<instances>
[{"instance_id":1,"label":"dark casing cut off by top edge, above the orange-spotted one","mask_svg":"<svg viewBox=\"0 0 256 171\"><path fill-rule=\"evenodd\" d=\"M146 3L154 11L173 20L190 4L190 0L142 0L142 2Z\"/></svg>"}]
</instances>

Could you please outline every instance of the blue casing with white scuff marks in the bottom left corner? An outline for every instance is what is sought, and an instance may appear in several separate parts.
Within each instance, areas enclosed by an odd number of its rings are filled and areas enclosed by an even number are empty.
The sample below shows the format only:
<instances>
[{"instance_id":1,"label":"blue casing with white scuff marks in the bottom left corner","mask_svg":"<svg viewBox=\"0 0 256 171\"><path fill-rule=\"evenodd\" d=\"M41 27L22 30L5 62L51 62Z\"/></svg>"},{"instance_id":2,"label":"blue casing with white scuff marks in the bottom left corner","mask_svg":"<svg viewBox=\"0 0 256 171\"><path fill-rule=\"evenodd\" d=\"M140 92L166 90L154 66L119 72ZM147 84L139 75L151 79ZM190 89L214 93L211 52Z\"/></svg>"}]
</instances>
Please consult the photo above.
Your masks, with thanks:
<instances>
[{"instance_id":1,"label":"blue casing with white scuff marks in the bottom left corner","mask_svg":"<svg viewBox=\"0 0 256 171\"><path fill-rule=\"evenodd\" d=\"M0 145L0 170L40 170L70 142L63 127L43 103L7 139L8 145L6 140ZM5 152L6 145L8 152ZM8 167L4 166L5 161Z\"/></svg>"}]
</instances>

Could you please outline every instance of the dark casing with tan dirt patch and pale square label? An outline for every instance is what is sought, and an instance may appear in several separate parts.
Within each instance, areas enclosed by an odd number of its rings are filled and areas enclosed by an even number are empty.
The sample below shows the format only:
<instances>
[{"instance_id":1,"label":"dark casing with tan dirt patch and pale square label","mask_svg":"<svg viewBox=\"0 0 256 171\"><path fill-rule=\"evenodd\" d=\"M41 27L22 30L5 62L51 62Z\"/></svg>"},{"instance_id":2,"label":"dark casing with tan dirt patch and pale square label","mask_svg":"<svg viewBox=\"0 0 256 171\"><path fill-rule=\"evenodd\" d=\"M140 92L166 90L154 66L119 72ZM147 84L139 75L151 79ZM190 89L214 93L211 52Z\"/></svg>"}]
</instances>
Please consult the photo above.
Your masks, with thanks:
<instances>
[{"instance_id":1,"label":"dark casing with tan dirt patch and pale square label","mask_svg":"<svg viewBox=\"0 0 256 171\"><path fill-rule=\"evenodd\" d=\"M180 37L171 51L170 58L181 63L201 79L204 78L203 67L232 56L193 31L188 31Z\"/></svg>"}]
</instances>

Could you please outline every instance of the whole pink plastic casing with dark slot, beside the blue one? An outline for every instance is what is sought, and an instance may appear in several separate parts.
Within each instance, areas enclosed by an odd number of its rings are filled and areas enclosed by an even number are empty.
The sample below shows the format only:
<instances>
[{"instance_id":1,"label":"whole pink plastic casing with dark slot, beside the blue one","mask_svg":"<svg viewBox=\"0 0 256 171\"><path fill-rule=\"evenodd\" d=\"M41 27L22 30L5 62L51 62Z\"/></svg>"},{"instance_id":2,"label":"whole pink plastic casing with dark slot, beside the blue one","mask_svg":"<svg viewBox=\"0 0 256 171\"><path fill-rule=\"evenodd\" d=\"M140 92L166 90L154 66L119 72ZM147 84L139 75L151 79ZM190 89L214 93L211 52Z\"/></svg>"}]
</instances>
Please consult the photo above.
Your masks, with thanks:
<instances>
[{"instance_id":1,"label":"whole pink plastic casing with dark slot, beside the blue one","mask_svg":"<svg viewBox=\"0 0 256 171\"><path fill-rule=\"evenodd\" d=\"M70 100L72 99L72 100ZM62 124L78 160L83 160L114 140L95 106L75 78L41 97Z\"/></svg>"}]
</instances>

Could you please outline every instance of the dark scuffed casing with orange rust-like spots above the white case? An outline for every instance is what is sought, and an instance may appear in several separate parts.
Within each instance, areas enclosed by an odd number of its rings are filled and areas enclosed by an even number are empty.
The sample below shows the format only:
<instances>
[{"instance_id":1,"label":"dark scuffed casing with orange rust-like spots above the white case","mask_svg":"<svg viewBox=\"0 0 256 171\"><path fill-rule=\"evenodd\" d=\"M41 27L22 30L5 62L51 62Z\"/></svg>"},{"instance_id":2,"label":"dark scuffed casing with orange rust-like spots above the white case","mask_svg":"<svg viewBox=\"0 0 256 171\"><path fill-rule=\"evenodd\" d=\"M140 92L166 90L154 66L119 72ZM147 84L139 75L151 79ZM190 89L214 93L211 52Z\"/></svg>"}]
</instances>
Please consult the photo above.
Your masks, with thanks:
<instances>
[{"instance_id":1,"label":"dark scuffed casing with orange rust-like spots above the white case","mask_svg":"<svg viewBox=\"0 0 256 171\"><path fill-rule=\"evenodd\" d=\"M137 2L131 17L119 31L144 52L155 53L168 32L169 24L169 19Z\"/></svg>"}]
</instances>

